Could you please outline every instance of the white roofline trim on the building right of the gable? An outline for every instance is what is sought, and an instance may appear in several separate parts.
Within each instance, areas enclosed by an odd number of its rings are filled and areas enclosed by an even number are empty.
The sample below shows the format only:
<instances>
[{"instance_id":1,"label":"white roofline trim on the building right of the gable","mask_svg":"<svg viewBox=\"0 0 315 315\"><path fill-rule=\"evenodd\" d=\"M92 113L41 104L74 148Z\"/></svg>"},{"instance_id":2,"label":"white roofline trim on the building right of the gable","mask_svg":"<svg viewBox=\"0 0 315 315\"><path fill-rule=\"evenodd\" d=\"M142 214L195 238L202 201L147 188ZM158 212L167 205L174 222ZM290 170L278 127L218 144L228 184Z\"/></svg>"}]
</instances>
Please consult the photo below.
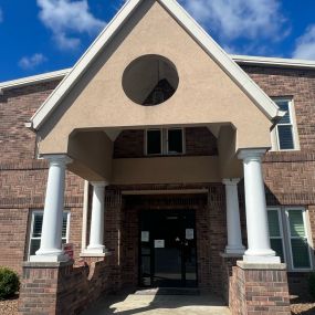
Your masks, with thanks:
<instances>
[{"instance_id":1,"label":"white roofline trim on the building right of the gable","mask_svg":"<svg viewBox=\"0 0 315 315\"><path fill-rule=\"evenodd\" d=\"M267 56L252 56L252 55L231 55L231 57L239 64L250 65L265 65L276 67L315 67L315 61L285 59L285 57L267 57Z\"/></svg>"}]
</instances>

